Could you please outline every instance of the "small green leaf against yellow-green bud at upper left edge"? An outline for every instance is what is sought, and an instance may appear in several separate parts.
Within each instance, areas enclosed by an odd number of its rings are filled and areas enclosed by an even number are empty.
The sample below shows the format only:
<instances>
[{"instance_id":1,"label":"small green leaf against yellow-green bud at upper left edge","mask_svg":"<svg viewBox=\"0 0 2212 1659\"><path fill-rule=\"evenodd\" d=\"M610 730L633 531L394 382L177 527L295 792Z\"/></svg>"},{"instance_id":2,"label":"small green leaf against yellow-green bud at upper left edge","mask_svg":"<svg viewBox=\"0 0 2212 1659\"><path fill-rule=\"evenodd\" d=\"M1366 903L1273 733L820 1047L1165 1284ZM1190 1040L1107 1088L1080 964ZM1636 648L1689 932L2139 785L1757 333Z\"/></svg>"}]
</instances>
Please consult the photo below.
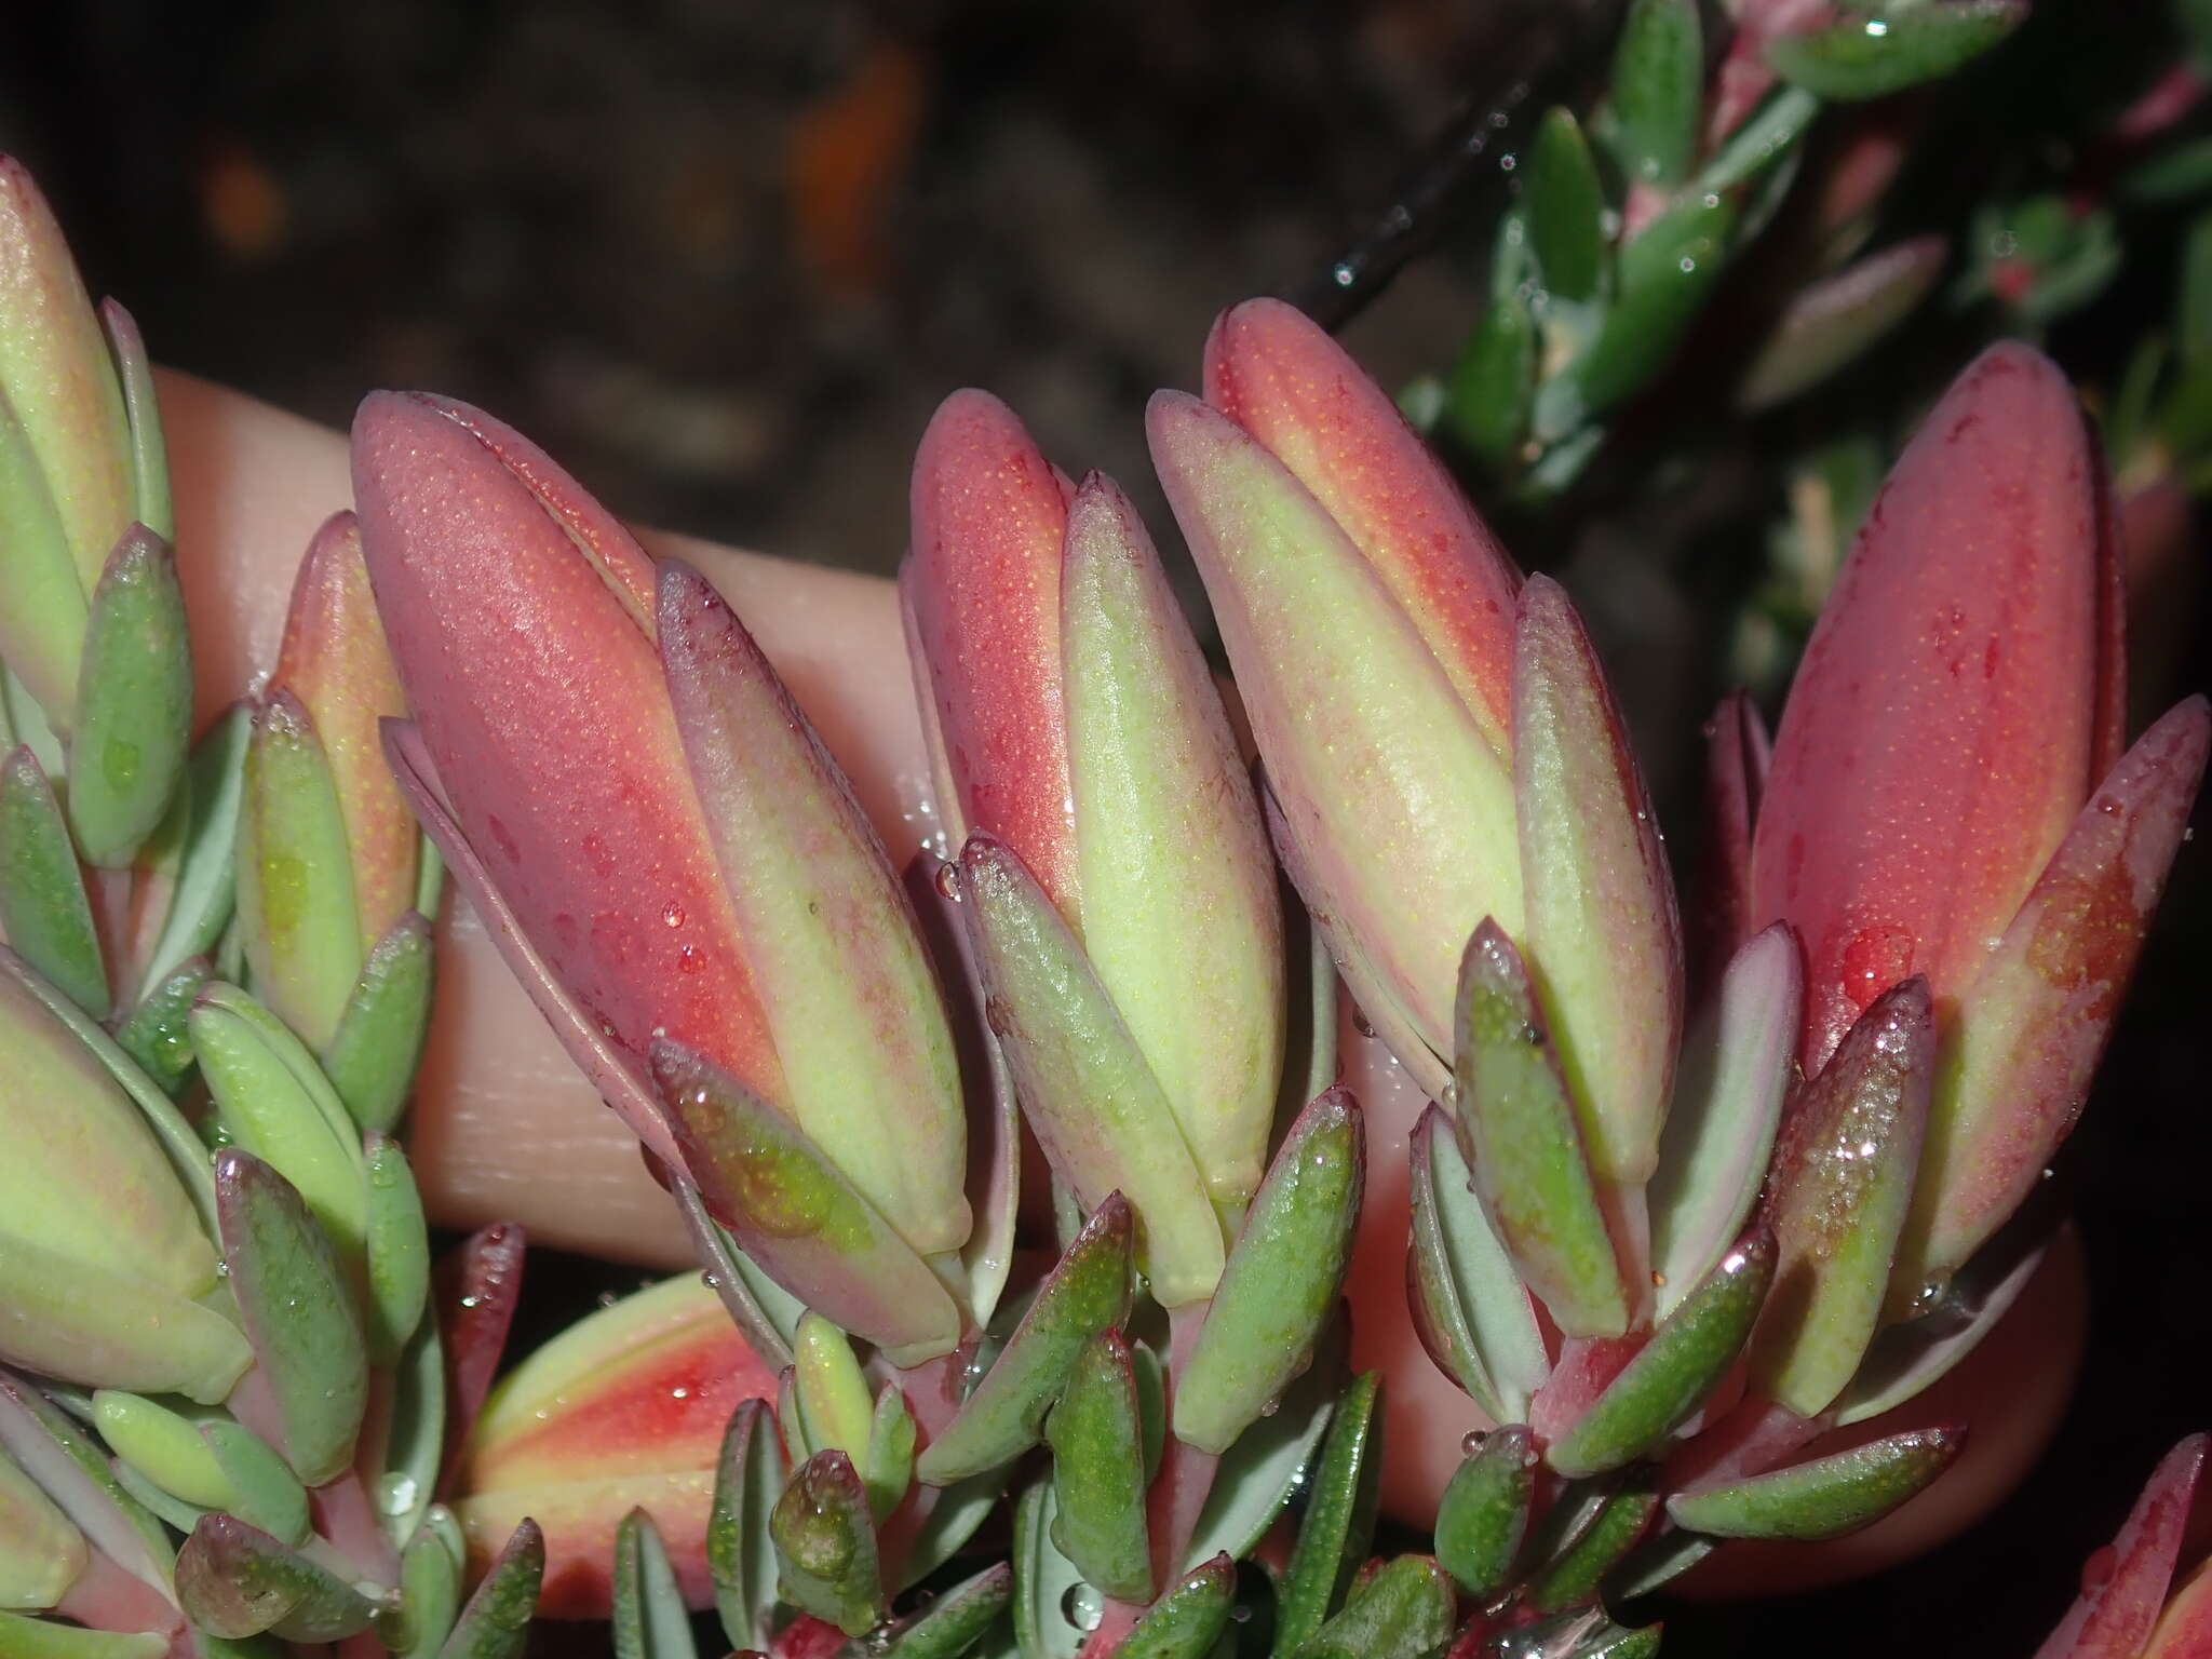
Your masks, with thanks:
<instances>
[{"instance_id":1,"label":"small green leaf against yellow-green bud at upper left edge","mask_svg":"<svg viewBox=\"0 0 2212 1659\"><path fill-rule=\"evenodd\" d=\"M108 553L77 664L69 823L86 860L119 869L184 779L192 648L168 542L133 524Z\"/></svg>"}]
</instances>

